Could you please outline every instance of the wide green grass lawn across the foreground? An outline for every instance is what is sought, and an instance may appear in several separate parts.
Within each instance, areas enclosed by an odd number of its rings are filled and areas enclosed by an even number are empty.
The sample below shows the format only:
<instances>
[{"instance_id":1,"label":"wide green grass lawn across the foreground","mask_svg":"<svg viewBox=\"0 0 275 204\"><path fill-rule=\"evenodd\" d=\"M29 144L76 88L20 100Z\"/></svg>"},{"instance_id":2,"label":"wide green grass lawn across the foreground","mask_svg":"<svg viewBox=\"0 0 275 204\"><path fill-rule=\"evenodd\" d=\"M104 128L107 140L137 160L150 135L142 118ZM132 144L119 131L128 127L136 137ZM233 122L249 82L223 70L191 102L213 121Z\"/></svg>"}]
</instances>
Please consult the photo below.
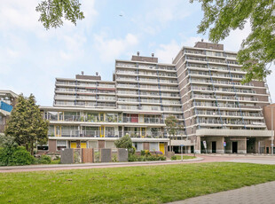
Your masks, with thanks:
<instances>
[{"instance_id":1,"label":"wide green grass lawn across the foreground","mask_svg":"<svg viewBox=\"0 0 275 204\"><path fill-rule=\"evenodd\" d=\"M275 165L213 162L0 174L0 203L162 203L275 180Z\"/></svg>"}]
</instances>

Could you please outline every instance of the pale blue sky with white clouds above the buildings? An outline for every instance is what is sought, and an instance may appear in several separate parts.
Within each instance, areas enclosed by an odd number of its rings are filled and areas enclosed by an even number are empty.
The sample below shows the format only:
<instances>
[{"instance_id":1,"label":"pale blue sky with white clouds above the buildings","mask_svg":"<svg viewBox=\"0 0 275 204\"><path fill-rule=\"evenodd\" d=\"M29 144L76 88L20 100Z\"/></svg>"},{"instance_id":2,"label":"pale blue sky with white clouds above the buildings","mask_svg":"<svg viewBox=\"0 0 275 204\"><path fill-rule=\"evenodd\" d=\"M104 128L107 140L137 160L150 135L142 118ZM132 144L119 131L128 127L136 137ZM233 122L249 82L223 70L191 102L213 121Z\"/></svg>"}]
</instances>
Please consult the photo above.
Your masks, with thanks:
<instances>
[{"instance_id":1,"label":"pale blue sky with white clouds above the buildings","mask_svg":"<svg viewBox=\"0 0 275 204\"><path fill-rule=\"evenodd\" d=\"M115 59L130 59L139 51L171 63L181 47L208 42L208 35L197 34L203 17L200 4L187 0L80 0L85 19L76 27L65 21L50 30L38 21L39 2L0 4L0 90L33 93L41 106L52 106L56 77L98 72L109 81ZM247 24L220 43L225 51L238 51L249 32ZM267 78L273 101L274 79L274 73Z\"/></svg>"}]
</instances>

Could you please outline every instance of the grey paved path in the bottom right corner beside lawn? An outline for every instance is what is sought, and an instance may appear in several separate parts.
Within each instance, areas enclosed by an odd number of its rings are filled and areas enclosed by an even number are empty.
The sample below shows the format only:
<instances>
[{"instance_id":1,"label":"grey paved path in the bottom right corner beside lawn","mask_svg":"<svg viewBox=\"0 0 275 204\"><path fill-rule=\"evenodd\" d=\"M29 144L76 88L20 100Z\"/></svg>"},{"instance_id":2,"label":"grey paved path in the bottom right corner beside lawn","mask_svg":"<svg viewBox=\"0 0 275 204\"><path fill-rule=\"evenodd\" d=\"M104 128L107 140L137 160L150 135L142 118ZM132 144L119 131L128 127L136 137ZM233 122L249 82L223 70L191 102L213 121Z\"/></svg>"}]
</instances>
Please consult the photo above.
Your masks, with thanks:
<instances>
[{"instance_id":1,"label":"grey paved path in the bottom right corner beside lawn","mask_svg":"<svg viewBox=\"0 0 275 204\"><path fill-rule=\"evenodd\" d=\"M275 203L275 181L256 184L227 192L217 192L171 204L265 204Z\"/></svg>"}]
</instances>

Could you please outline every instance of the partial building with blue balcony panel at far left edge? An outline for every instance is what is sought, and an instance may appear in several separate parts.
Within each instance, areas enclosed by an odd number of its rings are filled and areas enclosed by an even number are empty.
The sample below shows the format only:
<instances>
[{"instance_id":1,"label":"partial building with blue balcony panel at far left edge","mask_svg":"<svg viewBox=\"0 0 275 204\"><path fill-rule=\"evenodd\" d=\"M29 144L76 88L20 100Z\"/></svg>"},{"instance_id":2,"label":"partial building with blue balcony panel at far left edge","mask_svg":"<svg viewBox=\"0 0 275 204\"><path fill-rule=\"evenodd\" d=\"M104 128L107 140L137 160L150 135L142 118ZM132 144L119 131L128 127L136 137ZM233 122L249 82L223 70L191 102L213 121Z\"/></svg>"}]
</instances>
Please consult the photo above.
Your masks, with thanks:
<instances>
[{"instance_id":1,"label":"partial building with blue balcony panel at far left edge","mask_svg":"<svg viewBox=\"0 0 275 204\"><path fill-rule=\"evenodd\" d=\"M4 126L18 97L12 90L0 90L0 134L4 133Z\"/></svg>"}]
</instances>

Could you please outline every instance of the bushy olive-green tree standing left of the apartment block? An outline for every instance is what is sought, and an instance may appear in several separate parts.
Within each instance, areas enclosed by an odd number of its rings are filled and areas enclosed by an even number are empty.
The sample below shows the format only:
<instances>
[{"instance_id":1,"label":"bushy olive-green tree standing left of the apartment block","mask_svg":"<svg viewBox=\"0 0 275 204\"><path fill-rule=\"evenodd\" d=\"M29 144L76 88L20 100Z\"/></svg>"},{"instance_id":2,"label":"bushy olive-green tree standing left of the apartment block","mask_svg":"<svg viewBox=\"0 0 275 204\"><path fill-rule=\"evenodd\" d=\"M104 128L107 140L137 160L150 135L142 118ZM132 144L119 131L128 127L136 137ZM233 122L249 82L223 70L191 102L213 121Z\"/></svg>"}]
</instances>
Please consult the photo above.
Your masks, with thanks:
<instances>
[{"instance_id":1,"label":"bushy olive-green tree standing left of the apartment block","mask_svg":"<svg viewBox=\"0 0 275 204\"><path fill-rule=\"evenodd\" d=\"M49 122L43 120L39 107L35 105L34 95L25 98L21 94L18 104L12 109L4 134L13 137L14 142L25 146L33 154L35 145L47 143L48 127Z\"/></svg>"}]
</instances>

